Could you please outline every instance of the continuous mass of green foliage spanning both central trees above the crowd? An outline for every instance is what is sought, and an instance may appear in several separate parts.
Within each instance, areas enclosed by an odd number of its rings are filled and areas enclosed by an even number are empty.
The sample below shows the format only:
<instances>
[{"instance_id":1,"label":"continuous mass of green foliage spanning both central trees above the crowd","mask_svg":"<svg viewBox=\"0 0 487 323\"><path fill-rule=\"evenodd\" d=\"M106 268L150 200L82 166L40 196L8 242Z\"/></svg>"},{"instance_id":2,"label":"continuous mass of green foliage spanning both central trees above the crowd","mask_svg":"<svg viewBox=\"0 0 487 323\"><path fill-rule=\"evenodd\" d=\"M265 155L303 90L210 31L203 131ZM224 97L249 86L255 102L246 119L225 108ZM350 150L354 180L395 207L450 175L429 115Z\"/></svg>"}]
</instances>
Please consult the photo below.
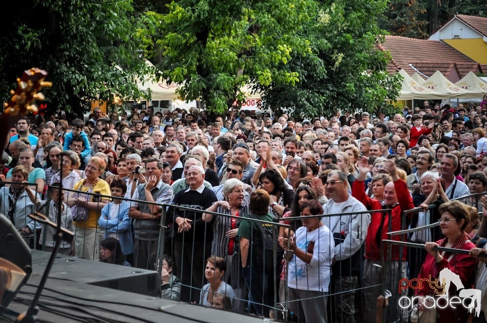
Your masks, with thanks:
<instances>
[{"instance_id":1,"label":"continuous mass of green foliage spanning both central trees above the crowd","mask_svg":"<svg viewBox=\"0 0 487 323\"><path fill-rule=\"evenodd\" d=\"M395 91L376 50L384 1L181 0L149 12L146 54L187 100L223 113L253 84L274 109L373 110Z\"/></svg>"}]
</instances>

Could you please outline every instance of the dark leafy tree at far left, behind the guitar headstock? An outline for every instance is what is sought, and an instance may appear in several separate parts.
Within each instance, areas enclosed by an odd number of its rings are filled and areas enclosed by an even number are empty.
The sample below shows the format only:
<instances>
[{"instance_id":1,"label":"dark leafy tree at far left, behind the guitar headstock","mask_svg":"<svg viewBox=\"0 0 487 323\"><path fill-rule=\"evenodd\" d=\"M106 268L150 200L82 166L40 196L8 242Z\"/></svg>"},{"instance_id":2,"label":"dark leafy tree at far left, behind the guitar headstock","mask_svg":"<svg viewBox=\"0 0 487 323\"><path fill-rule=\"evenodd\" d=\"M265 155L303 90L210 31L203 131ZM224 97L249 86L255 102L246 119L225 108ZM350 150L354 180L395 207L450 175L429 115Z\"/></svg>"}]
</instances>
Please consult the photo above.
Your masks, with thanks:
<instances>
[{"instance_id":1,"label":"dark leafy tree at far left, behind the guitar headstock","mask_svg":"<svg viewBox=\"0 0 487 323\"><path fill-rule=\"evenodd\" d=\"M134 79L148 72L133 37L130 1L30 0L3 4L0 90L30 67L49 72L43 91L53 109L82 112L85 100L139 98Z\"/></svg>"}]
</instances>

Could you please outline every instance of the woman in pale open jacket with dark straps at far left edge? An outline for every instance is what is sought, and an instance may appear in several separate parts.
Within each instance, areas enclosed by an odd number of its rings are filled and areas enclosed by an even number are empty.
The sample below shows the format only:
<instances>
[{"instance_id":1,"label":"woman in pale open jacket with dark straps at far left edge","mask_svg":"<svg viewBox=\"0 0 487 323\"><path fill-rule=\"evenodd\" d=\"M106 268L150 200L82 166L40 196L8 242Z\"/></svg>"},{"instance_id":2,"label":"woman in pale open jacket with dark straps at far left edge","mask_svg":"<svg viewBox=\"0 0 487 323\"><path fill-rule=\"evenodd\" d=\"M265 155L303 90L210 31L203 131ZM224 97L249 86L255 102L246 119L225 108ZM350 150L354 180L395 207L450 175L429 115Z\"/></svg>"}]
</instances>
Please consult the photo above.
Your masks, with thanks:
<instances>
[{"instance_id":1,"label":"woman in pale open jacket with dark straps at far left edge","mask_svg":"<svg viewBox=\"0 0 487 323\"><path fill-rule=\"evenodd\" d=\"M17 165L12 170L12 185L0 188L0 213L8 217L15 228L24 236L29 236L41 225L28 218L36 211L34 202L39 195L22 183L27 183L28 170ZM35 196L37 195L37 197Z\"/></svg>"}]
</instances>

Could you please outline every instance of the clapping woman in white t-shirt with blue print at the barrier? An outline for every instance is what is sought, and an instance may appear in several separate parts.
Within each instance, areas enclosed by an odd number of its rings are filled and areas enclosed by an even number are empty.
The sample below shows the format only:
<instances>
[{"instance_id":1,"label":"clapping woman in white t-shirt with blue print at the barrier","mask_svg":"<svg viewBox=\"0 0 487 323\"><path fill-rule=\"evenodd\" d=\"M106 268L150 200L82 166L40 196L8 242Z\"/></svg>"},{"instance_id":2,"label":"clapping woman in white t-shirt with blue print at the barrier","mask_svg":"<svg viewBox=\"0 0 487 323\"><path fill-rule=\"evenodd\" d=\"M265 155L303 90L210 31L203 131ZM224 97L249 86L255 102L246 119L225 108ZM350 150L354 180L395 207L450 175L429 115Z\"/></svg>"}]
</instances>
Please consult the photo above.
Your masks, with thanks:
<instances>
[{"instance_id":1,"label":"clapping woman in white t-shirt with blue print at the barrier","mask_svg":"<svg viewBox=\"0 0 487 323\"><path fill-rule=\"evenodd\" d=\"M316 201L305 202L301 216L322 215ZM330 285L330 266L335 243L321 218L303 218L303 226L291 239L279 238L288 263L289 311L306 322L326 322L326 293Z\"/></svg>"}]
</instances>

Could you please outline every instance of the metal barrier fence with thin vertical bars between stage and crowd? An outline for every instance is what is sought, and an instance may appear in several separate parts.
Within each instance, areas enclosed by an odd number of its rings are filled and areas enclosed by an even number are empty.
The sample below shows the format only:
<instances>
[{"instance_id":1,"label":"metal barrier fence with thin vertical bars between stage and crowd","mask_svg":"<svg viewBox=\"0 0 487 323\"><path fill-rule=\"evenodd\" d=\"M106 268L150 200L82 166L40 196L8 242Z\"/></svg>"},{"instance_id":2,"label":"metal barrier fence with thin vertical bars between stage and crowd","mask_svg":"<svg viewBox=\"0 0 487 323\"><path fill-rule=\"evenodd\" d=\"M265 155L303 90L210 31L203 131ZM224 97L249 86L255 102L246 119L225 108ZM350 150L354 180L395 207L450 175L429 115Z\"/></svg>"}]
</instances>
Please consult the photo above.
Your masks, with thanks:
<instances>
[{"instance_id":1,"label":"metal barrier fence with thin vertical bars between stage and crowd","mask_svg":"<svg viewBox=\"0 0 487 323\"><path fill-rule=\"evenodd\" d=\"M34 186L35 184L22 183L22 185ZM57 187L51 188L53 191L58 190ZM394 295L398 291L398 281L403 278L411 279L417 276L419 266L426 255L423 241L420 244L415 244L410 242L411 238L414 236L415 241L419 241L419 238L427 237L428 235L425 234L426 229L432 230L430 233L432 238L436 237L437 233L435 233L435 230L437 230L438 224L434 219L439 217L435 213L437 212L437 206L429 206L430 213L428 216L431 217L432 224L400 232L389 232L391 237L397 236L399 241L394 239L382 241L381 248L384 249L381 251L382 259L373 259L371 261L364 258L364 235L359 231L337 230L333 224L338 223L338 228L349 228L354 219L362 221L363 217L369 217L372 213L372 216L384 215L390 219L390 210L279 219L281 222L287 221L289 223L283 224L277 219L274 221L266 221L259 218L242 220L242 215L232 216L230 214L206 212L196 206L161 205L149 203L146 200L117 198L121 201L121 204L115 206L113 204L114 197L112 196L83 192L83 194L86 194L84 198L92 201L89 207L90 210L87 213L88 218L83 221L70 222L69 211L71 211L72 215L76 213L76 216L86 213L76 210L83 209L84 199L79 191L69 189L63 189L63 191L66 192L66 206L68 208L63 208L61 221L64 222L62 222L62 225L67 228L72 225L77 238L75 238L74 248L64 245L61 246L60 252L72 254L74 251L77 257L97 261L100 257L100 241L106 237L114 237L121 245L121 251L124 256L122 260L128 261L132 266L157 270L161 277L168 277L167 281L161 283L162 294L165 297L210 305L214 303L214 299L223 296L223 303L224 306L227 306L227 309L231 308L242 312L264 315L268 315L271 312L271 315L273 314L275 318L298 321L305 321L303 310L308 313L309 309L306 306L309 306L309 304L316 305L318 304L317 302L320 302L321 308L326 310L326 312L324 314L322 311L316 315L325 315L326 321L329 322L372 321L374 319L373 316L363 316L363 313L370 312L368 310L371 307L374 309L379 308L378 311L373 312L376 312L377 318L381 317L384 321L392 322L407 319L408 313L400 310L390 310L390 306L385 312L380 311L381 307L377 307L377 297L386 295L386 290L389 290L392 295L389 297L389 304L391 304L391 301L394 302L395 298L397 298ZM10 208L4 207L7 201L11 202L7 195L9 195L9 192L6 192L6 189L4 191L0 190L3 208L0 211L6 215L9 214L9 211L12 213ZM481 195L472 194L459 199L470 201L470 203L478 206ZM58 210L54 203L55 198L44 201L44 203L36 201L37 203L31 204L28 200L28 196L15 200L15 205L19 210L23 211L24 215L41 210L46 215L52 216ZM108 204L109 202L110 205ZM188 205L190 204L191 201L188 201ZM7 203L7 205L9 204ZM71 207L75 205L79 205L81 208L74 208L76 212L73 212ZM17 212L16 210L14 211ZM421 210L416 208L404 211L403 228L407 228L410 224L409 221L406 221L409 218L408 215L418 213ZM203 213L211 215L212 218L208 222L203 221ZM20 213L15 213L15 215L20 215ZM301 247L305 254L314 254L315 248L317 248L316 252L320 256L318 260L311 257L310 263L303 264L295 254L292 257L288 255L289 262L286 262L281 253L282 250L279 248L279 235L291 228L299 227L299 223L305 218L323 219L323 223L332 230L328 235L328 243L325 238L326 234L324 236L318 235L318 238L322 239L320 240L321 243L318 247L315 243L313 248L310 248L309 244L312 234L307 232L307 230L300 231L300 235L295 238L304 241L304 245L297 245L294 248L299 249ZM52 219L54 220L53 222L55 222L55 219ZM192 229L178 232L178 222L181 219L191 220L186 223L191 224ZM30 224L30 222L27 223L29 220L25 216L23 218L22 216L16 217L15 220L15 225L19 230ZM256 266L255 263L250 265L252 270L242 268L239 239L226 235L232 222L248 222L247 226L252 228L250 230L248 252L251 255L258 254L263 256L260 265ZM293 225L295 223L298 224ZM265 244L259 244L257 241L262 235L260 231L257 231L259 224L261 227L272 228L272 272L266 271L263 266L266 262L265 255L268 255L269 251L266 250ZM43 228L40 233L39 229L40 225L33 222L33 234L28 236L31 247L50 251L51 241L49 236L51 232ZM348 239L347 236L349 236ZM350 237L354 238L355 244L356 241L361 241L361 244L359 246L353 245ZM316 237L313 238L316 239ZM230 241L233 241L233 243L230 244ZM284 247L284 250L290 250L292 241L290 238L285 240L285 242L281 241L281 247ZM229 245L231 245L232 250L230 250ZM341 245L341 248L353 250L353 256L336 262L327 259L334 253L331 246L334 246L333 249L336 250L339 245ZM392 259L393 248L397 248L399 251L400 257L397 260ZM262 250L258 251L257 249ZM404 253L406 250L407 256ZM167 266L168 262L164 255L169 255L170 259L172 259L170 268ZM223 292L221 290L213 291L212 286L206 284L214 278L212 275L215 276L218 273L216 269L211 268L212 266L209 266L210 268L207 266L206 260L212 255L227 261L223 281L228 283L234 295L228 304L225 303L225 301L228 301L225 296L228 296L230 288L224 289ZM406 257L405 259L403 255ZM312 261L318 262L311 263ZM327 264L327 261L331 261L331 263ZM367 261L369 262L368 265L371 266L369 269L372 268L373 270L364 272ZM217 263L216 267L218 265ZM318 272L312 271L316 265L319 265ZM285 269L281 270L283 266ZM404 275L404 268L407 268L407 275ZM167 271L170 269L172 271L168 273ZM246 272L246 270L248 271ZM292 272L291 277L287 271ZM281 276L282 272L287 274ZM328 280L322 280L323 272L327 272L326 275L329 275ZM308 274L315 276L308 277ZM299 284L298 280L300 278L304 279L304 285ZM317 278L318 280L311 278ZM263 285L268 287L267 290L256 287L262 281L264 282ZM326 291L325 286L328 286L328 284L329 290ZM313 290L316 287L315 285L321 289ZM302 288L302 290L299 290L299 288ZM255 289L258 289L258 291L255 292ZM200 300L200 296L206 298Z\"/></svg>"}]
</instances>

